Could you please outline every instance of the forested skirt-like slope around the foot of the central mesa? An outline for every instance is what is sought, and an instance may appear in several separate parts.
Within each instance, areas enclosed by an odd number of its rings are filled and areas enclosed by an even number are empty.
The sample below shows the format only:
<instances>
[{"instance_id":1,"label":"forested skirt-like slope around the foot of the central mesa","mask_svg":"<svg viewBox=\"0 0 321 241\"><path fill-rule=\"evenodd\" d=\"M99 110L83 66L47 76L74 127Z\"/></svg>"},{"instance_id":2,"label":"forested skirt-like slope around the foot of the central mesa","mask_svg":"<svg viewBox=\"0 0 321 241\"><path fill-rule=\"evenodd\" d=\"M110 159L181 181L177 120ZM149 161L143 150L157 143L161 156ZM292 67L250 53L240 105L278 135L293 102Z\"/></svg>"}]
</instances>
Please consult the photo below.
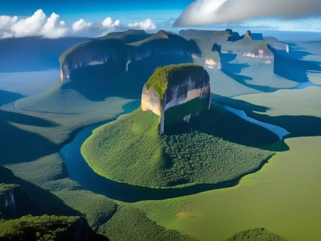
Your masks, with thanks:
<instances>
[{"instance_id":1,"label":"forested skirt-like slope around the foot of the central mesa","mask_svg":"<svg viewBox=\"0 0 321 241\"><path fill-rule=\"evenodd\" d=\"M81 153L96 173L133 185L168 187L232 180L274 154L247 146L263 146L262 141L273 143L278 138L226 112L212 105L197 121L174 127L178 134L160 137L159 116L138 108L95 129ZM249 129L255 134L247 134Z\"/></svg>"}]
</instances>

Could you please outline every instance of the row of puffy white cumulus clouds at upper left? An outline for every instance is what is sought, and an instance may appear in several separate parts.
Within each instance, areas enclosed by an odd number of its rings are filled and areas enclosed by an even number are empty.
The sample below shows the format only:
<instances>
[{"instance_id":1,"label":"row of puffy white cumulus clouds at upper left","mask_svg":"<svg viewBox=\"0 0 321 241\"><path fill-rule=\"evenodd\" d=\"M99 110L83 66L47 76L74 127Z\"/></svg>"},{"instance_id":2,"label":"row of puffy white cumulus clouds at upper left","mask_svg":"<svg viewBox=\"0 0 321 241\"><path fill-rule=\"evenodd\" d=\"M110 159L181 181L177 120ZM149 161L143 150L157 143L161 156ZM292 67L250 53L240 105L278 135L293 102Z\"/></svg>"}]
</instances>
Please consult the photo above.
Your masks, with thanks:
<instances>
[{"instance_id":1,"label":"row of puffy white cumulus clouds at upper left","mask_svg":"<svg viewBox=\"0 0 321 241\"><path fill-rule=\"evenodd\" d=\"M79 19L70 25L66 25L64 21L59 20L58 14L52 13L47 17L41 9L27 18L0 16L0 39L28 36L40 36L49 39L65 36L95 38L109 32L125 31L129 28L148 31L155 30L157 25L151 19L124 25L120 20L113 21L110 17L102 22L87 22L84 19Z\"/></svg>"}]
</instances>

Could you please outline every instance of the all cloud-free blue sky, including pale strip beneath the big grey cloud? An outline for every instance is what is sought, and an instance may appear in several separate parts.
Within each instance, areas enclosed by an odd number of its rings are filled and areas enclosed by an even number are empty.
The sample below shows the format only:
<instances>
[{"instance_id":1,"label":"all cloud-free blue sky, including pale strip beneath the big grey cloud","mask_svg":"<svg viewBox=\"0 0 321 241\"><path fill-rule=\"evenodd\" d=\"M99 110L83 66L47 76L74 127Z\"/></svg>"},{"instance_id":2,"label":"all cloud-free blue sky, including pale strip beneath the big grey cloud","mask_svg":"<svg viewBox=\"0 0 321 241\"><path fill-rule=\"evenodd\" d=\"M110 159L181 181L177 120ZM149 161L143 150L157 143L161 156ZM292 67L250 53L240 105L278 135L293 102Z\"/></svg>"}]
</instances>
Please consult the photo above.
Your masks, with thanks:
<instances>
[{"instance_id":1,"label":"all cloud-free blue sky, including pale strip beneath the big grey cloud","mask_svg":"<svg viewBox=\"0 0 321 241\"><path fill-rule=\"evenodd\" d=\"M64 21L66 25L70 25L79 19L84 19L87 22L97 22L103 21L107 17L111 17L113 21L119 19L123 25L127 26L128 23L140 22L150 18L157 24L157 29L161 28L170 30L171 26L168 20L170 18L178 18L183 10L192 2L193 0L9 0L1 3L0 17L5 15L27 18L32 16L38 9L41 9L47 17L49 17L51 13L55 12L59 15L59 21ZM246 31L246 29L251 29L252 31L281 30L321 32L320 23L320 18L310 18L305 20L265 18L246 20L229 25L212 24L193 28L206 28L213 30L232 28L233 30L244 29L244 31ZM185 29L186 28L190 27L185 27ZM172 31L177 30L179 29L172 29ZM3 30L3 32L4 31L8 31L8 29ZM112 29L110 29L110 31L112 31ZM4 35L5 34L3 33L3 36Z\"/></svg>"}]
</instances>

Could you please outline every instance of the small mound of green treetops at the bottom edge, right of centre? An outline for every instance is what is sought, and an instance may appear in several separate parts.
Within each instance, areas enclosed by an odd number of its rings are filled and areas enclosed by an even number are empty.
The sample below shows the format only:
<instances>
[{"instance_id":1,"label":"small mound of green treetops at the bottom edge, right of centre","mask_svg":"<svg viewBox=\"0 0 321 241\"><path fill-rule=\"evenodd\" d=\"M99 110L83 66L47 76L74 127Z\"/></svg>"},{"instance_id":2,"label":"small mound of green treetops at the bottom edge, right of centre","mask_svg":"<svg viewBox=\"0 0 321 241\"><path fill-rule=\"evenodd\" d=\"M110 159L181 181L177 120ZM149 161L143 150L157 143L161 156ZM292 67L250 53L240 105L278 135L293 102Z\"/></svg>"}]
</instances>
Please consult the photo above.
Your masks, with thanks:
<instances>
[{"instance_id":1,"label":"small mound of green treetops at the bottom edge, right of centre","mask_svg":"<svg viewBox=\"0 0 321 241\"><path fill-rule=\"evenodd\" d=\"M224 241L288 241L288 239L273 234L265 228L253 228L236 233Z\"/></svg>"}]
</instances>

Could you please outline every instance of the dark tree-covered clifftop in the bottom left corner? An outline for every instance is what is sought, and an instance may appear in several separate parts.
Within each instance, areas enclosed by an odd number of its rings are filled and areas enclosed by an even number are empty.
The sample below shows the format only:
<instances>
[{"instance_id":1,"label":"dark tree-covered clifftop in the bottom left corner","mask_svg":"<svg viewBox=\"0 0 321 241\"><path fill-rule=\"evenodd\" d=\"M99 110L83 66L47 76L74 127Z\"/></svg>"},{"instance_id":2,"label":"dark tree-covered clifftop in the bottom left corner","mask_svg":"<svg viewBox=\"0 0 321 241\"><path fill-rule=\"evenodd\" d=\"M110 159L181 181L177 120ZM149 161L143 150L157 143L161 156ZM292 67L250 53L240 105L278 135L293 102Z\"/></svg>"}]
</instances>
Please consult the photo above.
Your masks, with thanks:
<instances>
[{"instance_id":1,"label":"dark tree-covered clifftop in the bottom left corner","mask_svg":"<svg viewBox=\"0 0 321 241\"><path fill-rule=\"evenodd\" d=\"M32 217L28 215L20 219L7 221L1 219L0 240L69 241L106 239L92 232L81 217L58 217L54 215Z\"/></svg>"}]
</instances>

